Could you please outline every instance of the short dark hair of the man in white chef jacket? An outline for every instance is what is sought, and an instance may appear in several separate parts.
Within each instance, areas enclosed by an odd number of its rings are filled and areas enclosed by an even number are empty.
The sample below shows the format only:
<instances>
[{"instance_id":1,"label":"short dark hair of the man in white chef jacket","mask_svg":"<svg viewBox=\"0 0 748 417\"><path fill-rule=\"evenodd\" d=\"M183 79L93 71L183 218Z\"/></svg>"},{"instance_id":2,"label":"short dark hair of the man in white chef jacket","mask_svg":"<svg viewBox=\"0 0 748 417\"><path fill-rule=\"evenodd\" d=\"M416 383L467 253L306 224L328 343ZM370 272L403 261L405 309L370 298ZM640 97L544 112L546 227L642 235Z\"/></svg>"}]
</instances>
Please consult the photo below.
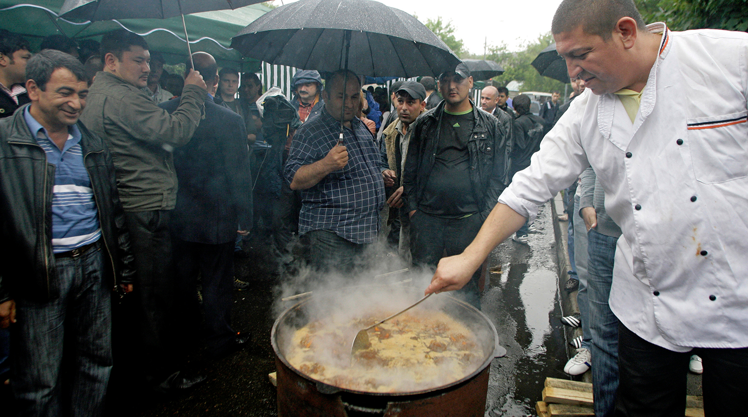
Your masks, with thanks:
<instances>
[{"instance_id":1,"label":"short dark hair of the man in white chef jacket","mask_svg":"<svg viewBox=\"0 0 748 417\"><path fill-rule=\"evenodd\" d=\"M607 41L622 17L631 17L640 31L646 23L633 0L564 0L556 9L551 32L570 32L582 25L586 34L598 35Z\"/></svg>"}]
</instances>

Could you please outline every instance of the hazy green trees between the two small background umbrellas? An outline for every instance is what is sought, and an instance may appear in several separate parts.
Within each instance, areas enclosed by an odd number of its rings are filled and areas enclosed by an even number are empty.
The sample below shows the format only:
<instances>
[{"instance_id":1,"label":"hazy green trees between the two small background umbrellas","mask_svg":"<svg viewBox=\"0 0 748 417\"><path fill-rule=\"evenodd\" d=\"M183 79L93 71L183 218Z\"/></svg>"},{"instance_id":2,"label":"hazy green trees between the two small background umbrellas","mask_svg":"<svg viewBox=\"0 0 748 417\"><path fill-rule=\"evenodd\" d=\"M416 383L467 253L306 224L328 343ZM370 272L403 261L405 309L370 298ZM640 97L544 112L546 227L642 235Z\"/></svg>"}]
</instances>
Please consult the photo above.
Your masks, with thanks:
<instances>
[{"instance_id":1,"label":"hazy green trees between the two small background umbrellas","mask_svg":"<svg viewBox=\"0 0 748 417\"><path fill-rule=\"evenodd\" d=\"M533 40L524 46L524 50L519 52L509 52L506 45L489 46L485 59L496 61L503 67L504 73L494 77L499 85L509 84L510 81L519 81L522 83L521 90L524 91L554 91L563 92L564 84L553 78L544 77L540 72L531 65L538 54L554 43L554 37L550 32L541 35L537 40ZM482 55L474 55L471 58L482 59Z\"/></svg>"}]
</instances>

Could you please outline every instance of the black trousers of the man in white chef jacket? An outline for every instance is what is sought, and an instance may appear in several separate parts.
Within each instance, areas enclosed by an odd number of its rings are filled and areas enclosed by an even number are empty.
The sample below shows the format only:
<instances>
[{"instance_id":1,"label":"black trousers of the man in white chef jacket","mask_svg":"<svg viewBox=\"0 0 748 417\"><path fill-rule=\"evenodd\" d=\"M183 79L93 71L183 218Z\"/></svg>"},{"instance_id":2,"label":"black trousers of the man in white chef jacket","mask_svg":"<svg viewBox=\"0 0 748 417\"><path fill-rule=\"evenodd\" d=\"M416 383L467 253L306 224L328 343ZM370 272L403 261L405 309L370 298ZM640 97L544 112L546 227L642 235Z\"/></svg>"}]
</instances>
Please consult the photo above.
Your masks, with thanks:
<instances>
[{"instance_id":1,"label":"black trousers of the man in white chef jacket","mask_svg":"<svg viewBox=\"0 0 748 417\"><path fill-rule=\"evenodd\" d=\"M699 355L704 364L702 389L707 417L742 416L740 398L748 390L748 348L673 352L646 342L619 325L620 382L616 416L681 417L686 408L688 361Z\"/></svg>"}]
</instances>

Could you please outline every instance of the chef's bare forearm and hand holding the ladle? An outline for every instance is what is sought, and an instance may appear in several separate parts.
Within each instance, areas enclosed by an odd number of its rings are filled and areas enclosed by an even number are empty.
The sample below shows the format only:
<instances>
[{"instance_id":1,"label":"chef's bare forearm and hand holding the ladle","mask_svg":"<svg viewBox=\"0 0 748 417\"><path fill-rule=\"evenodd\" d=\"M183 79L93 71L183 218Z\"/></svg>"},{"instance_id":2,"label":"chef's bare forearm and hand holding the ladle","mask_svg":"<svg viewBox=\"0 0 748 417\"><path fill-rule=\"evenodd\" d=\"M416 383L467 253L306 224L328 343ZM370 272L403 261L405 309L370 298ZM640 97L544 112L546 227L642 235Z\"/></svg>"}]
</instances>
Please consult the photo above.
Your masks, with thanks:
<instances>
[{"instance_id":1,"label":"chef's bare forearm and hand holding the ladle","mask_svg":"<svg viewBox=\"0 0 748 417\"><path fill-rule=\"evenodd\" d=\"M478 235L465 248L465 251L439 261L438 268L431 279L431 285L426 288L426 294L462 288L470 281L473 272L488 257L491 250L518 231L525 220L527 218L510 209L506 204L497 203L485 219Z\"/></svg>"}]
</instances>

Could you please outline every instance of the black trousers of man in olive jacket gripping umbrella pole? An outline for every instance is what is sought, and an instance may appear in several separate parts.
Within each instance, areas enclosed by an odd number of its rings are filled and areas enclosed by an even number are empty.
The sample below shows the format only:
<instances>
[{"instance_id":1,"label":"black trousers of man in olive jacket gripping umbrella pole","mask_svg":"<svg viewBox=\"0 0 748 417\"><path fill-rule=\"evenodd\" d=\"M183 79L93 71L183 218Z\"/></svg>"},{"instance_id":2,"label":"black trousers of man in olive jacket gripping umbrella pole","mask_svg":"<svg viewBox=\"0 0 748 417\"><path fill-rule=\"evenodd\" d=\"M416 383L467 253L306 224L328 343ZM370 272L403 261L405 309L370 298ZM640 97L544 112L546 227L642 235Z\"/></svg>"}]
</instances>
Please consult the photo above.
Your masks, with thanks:
<instances>
[{"instance_id":1,"label":"black trousers of man in olive jacket gripping umbrella pole","mask_svg":"<svg viewBox=\"0 0 748 417\"><path fill-rule=\"evenodd\" d=\"M169 210L125 213L137 280L132 294L127 294L122 305L114 310L119 316L114 327L115 363L123 365L132 361L131 365L135 365L140 374L156 380L180 366L172 354L177 317L173 308L175 285L170 219ZM124 350L121 355L117 354L117 347ZM123 360L118 360L118 356Z\"/></svg>"}]
</instances>

